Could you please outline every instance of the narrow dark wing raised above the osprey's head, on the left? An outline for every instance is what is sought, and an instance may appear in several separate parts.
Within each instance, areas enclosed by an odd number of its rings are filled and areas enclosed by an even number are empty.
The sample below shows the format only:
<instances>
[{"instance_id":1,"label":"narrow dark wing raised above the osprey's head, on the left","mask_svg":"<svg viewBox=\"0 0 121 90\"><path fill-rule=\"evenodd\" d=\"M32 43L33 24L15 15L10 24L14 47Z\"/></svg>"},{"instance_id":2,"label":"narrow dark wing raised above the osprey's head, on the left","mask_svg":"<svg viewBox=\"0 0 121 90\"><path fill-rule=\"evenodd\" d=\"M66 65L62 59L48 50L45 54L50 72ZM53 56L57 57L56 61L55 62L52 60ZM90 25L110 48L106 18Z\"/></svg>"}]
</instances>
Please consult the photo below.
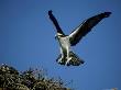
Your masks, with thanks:
<instances>
[{"instance_id":1,"label":"narrow dark wing raised above the osprey's head, on the left","mask_svg":"<svg viewBox=\"0 0 121 90\"><path fill-rule=\"evenodd\" d=\"M48 11L48 15L50 15L50 19L52 20L53 24L55 25L57 33L65 35L64 32L62 31L57 20L53 15L52 10Z\"/></svg>"}]
</instances>

